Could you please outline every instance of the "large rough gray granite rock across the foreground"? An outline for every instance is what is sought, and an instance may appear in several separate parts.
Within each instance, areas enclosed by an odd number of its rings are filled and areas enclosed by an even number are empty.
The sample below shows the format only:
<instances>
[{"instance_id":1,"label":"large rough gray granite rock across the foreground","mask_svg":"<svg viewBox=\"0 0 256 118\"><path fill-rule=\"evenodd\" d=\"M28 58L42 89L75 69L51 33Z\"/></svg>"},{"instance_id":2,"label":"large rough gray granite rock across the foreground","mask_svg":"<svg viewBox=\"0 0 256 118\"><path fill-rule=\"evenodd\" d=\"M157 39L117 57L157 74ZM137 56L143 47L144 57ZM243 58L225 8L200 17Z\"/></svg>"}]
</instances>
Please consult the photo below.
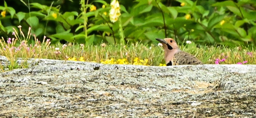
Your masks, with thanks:
<instances>
[{"instance_id":1,"label":"large rough gray granite rock across the foreground","mask_svg":"<svg viewBox=\"0 0 256 118\"><path fill-rule=\"evenodd\" d=\"M256 65L28 63L0 73L0 117L256 117Z\"/></svg>"}]
</instances>

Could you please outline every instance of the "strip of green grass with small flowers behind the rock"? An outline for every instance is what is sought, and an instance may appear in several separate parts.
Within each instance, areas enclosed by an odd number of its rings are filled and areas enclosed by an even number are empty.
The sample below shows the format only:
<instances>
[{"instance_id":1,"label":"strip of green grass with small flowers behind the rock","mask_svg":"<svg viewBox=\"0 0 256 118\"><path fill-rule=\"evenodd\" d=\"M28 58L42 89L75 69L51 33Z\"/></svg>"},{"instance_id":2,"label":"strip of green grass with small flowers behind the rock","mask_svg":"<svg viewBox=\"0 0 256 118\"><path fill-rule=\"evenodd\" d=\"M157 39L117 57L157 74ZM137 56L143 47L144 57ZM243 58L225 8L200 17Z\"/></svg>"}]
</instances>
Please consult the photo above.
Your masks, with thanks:
<instances>
[{"instance_id":1,"label":"strip of green grass with small flowers behind the rock","mask_svg":"<svg viewBox=\"0 0 256 118\"><path fill-rule=\"evenodd\" d=\"M16 31L15 31L16 32ZM21 32L22 33L22 32ZM23 34L23 33L22 33ZM18 33L14 35L16 39L0 39L0 55L6 56L10 61L9 65L1 65L9 70L15 68L26 68L26 61L22 65L17 64L17 58L24 60L28 58L48 58L57 60L70 60L70 58L83 57L83 61L102 61L113 58L116 62L118 59L124 59L128 64L143 64L158 66L160 63L165 64L164 50L161 46L148 44L131 44L131 45L81 45L60 43L50 45L50 41L43 39L39 42L34 37L33 44L28 44L30 35L25 38L24 35L18 37ZM24 39L24 40L21 40ZM204 64L215 64L216 59L225 59L220 64L236 64L238 62L248 61L246 64L256 64L256 51L253 47L235 47L228 48L225 46L200 46L198 48L193 42L191 44L181 44L180 49L195 55ZM138 63L135 62L135 58ZM145 61L147 60L147 61ZM113 62L111 62L113 64Z\"/></svg>"}]
</instances>

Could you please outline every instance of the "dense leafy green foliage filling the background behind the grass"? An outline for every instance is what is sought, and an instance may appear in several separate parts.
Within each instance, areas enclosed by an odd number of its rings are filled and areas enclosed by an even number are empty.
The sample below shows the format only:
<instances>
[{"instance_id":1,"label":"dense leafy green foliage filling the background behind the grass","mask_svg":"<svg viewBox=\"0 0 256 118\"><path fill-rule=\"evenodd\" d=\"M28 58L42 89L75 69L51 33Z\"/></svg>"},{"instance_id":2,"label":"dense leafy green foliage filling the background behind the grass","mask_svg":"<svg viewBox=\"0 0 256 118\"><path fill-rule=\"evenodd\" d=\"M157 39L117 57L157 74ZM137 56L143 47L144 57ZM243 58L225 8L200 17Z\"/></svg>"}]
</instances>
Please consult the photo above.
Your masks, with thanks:
<instances>
[{"instance_id":1,"label":"dense leafy green foliage filling the background behind the grass","mask_svg":"<svg viewBox=\"0 0 256 118\"><path fill-rule=\"evenodd\" d=\"M21 25L24 34L31 27L38 39L45 35L53 43L112 44L120 43L121 22L125 43L156 44L155 38L165 37L203 45L255 46L256 43L254 0L120 0L121 17L115 23L108 14L104 15L111 9L110 0L89 0L88 5L86 2L2 1L0 11L5 10L6 16L0 17L0 36L14 37L12 28L19 31L17 26ZM103 4L106 8L102 8ZM89 11L91 5L97 10ZM54 13L56 18L52 16ZM191 17L186 19L186 15Z\"/></svg>"}]
</instances>

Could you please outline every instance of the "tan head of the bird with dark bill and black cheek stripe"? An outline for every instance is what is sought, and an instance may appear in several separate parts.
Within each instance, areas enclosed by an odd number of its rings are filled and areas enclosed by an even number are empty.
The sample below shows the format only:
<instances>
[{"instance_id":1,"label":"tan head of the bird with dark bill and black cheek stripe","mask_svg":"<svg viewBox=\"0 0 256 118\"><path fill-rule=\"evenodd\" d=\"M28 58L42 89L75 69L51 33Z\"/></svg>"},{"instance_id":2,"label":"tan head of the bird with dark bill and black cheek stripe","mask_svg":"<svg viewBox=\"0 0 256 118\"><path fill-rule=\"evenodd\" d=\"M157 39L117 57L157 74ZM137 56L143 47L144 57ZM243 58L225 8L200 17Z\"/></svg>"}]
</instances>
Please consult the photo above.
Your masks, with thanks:
<instances>
[{"instance_id":1,"label":"tan head of the bird with dark bill and black cheek stripe","mask_svg":"<svg viewBox=\"0 0 256 118\"><path fill-rule=\"evenodd\" d=\"M165 38L165 39L156 39L157 41L161 42L164 48L168 48L169 50L178 49L179 46L177 45L176 41L172 38Z\"/></svg>"}]
</instances>

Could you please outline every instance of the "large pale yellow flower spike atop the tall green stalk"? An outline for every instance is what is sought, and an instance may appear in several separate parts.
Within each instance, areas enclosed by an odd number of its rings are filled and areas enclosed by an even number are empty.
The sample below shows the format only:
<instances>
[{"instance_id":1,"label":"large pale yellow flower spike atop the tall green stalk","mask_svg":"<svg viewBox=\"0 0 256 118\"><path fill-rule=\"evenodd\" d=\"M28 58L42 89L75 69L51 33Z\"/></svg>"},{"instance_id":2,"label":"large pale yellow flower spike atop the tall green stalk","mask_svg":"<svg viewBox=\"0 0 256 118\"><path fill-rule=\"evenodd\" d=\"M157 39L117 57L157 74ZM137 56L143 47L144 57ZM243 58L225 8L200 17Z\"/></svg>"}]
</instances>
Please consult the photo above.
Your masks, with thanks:
<instances>
[{"instance_id":1,"label":"large pale yellow flower spike atop the tall green stalk","mask_svg":"<svg viewBox=\"0 0 256 118\"><path fill-rule=\"evenodd\" d=\"M120 17L121 13L120 13L120 5L119 2L117 0L113 0L110 4L111 9L109 11L109 17L111 22L116 22L118 20L118 18Z\"/></svg>"}]
</instances>

